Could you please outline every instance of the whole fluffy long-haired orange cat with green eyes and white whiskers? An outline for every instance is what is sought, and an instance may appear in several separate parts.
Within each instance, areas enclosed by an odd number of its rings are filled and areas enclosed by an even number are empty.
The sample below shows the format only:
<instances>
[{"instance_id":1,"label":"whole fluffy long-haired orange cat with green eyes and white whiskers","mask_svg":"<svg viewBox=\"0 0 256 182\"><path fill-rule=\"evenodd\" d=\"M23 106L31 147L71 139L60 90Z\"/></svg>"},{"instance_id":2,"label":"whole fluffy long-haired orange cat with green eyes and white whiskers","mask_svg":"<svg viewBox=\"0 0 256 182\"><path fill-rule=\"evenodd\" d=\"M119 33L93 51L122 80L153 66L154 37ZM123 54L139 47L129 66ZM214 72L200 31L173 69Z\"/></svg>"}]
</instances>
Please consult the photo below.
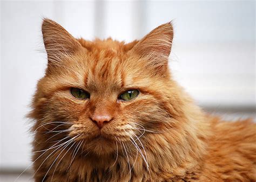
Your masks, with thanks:
<instances>
[{"instance_id":1,"label":"whole fluffy long-haired orange cat with green eyes and white whiskers","mask_svg":"<svg viewBox=\"0 0 256 182\"><path fill-rule=\"evenodd\" d=\"M255 181L256 124L204 113L173 80L173 27L131 43L42 24L29 117L35 181Z\"/></svg>"}]
</instances>

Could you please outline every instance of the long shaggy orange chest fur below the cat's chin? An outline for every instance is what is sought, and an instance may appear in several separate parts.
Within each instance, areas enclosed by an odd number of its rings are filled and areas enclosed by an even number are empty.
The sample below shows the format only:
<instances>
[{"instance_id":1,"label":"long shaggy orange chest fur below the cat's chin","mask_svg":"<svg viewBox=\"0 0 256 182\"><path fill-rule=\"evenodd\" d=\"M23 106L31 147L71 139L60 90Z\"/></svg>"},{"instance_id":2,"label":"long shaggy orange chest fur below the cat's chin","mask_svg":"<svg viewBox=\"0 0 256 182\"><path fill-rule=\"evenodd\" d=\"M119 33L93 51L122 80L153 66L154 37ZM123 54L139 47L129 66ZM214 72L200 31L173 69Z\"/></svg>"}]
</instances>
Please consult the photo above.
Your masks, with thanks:
<instances>
[{"instance_id":1,"label":"long shaggy orange chest fur below the cat's chin","mask_svg":"<svg viewBox=\"0 0 256 182\"><path fill-rule=\"evenodd\" d=\"M147 155L151 155L151 153L148 152ZM71 164L72 157L70 156L66 155L62 160L57 159L56 165L53 166L45 164L46 169L52 167L54 170L51 170L46 176L45 172L42 176L38 175L36 181L183 181L198 179L198 175L191 169L191 166L194 166L194 169L199 168L195 166L197 162L173 167L165 163L167 160L163 157L165 162L161 162L163 166L160 166L155 159L147 158L147 163L151 165L149 166L142 157L132 158L129 156L130 158L127 160L127 156L122 156L119 153L117 160L109 158L102 161L95 156L84 158L78 155ZM191 172L187 173L182 167L189 167Z\"/></svg>"}]
</instances>

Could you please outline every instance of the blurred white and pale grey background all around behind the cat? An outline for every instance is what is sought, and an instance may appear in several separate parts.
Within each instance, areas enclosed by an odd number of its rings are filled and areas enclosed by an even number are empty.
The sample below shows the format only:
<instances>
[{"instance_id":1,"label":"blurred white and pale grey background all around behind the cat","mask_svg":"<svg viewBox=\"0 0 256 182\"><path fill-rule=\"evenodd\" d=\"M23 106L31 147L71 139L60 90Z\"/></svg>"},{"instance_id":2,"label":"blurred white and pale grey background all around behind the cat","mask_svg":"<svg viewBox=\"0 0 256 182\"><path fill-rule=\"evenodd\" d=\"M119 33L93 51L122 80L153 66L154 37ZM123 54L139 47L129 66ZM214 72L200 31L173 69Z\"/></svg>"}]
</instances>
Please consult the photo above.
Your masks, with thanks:
<instances>
[{"instance_id":1,"label":"blurred white and pale grey background all around behind the cat","mask_svg":"<svg viewBox=\"0 0 256 182\"><path fill-rule=\"evenodd\" d=\"M255 1L1 1L0 181L30 179L31 96L46 68L42 18L74 37L129 42L173 20L170 68L209 113L255 121Z\"/></svg>"}]
</instances>

